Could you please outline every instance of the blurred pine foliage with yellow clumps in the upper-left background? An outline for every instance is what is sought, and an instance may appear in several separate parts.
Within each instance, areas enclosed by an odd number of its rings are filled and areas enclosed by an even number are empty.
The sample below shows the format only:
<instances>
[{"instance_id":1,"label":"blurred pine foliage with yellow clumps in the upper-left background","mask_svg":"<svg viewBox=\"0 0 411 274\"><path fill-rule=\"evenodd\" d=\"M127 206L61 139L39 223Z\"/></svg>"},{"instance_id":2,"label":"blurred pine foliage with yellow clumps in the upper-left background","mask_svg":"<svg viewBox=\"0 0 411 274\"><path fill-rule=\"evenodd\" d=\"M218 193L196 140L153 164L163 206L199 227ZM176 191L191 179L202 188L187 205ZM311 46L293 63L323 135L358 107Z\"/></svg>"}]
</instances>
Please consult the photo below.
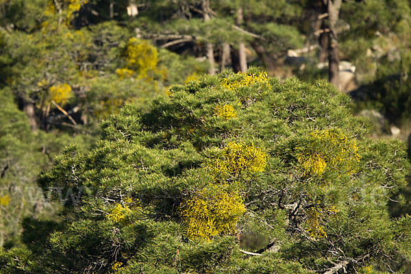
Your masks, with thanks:
<instances>
[{"instance_id":1,"label":"blurred pine foliage with yellow clumps in the upper-left background","mask_svg":"<svg viewBox=\"0 0 411 274\"><path fill-rule=\"evenodd\" d=\"M103 21L76 28L82 12L101 8L96 1L34 1L40 8L29 2L10 0L1 8L6 17L21 8L34 18L30 26L10 32L1 25L0 85L10 87L17 99L34 103L34 120L42 129L72 123L55 103L75 113L77 124L93 124L125 103L144 107L170 84L183 83L193 71L203 73L200 61L159 51L148 40L134 38L134 29L122 23ZM109 10L109 1L103 2ZM112 4L126 8L123 2Z\"/></svg>"}]
</instances>

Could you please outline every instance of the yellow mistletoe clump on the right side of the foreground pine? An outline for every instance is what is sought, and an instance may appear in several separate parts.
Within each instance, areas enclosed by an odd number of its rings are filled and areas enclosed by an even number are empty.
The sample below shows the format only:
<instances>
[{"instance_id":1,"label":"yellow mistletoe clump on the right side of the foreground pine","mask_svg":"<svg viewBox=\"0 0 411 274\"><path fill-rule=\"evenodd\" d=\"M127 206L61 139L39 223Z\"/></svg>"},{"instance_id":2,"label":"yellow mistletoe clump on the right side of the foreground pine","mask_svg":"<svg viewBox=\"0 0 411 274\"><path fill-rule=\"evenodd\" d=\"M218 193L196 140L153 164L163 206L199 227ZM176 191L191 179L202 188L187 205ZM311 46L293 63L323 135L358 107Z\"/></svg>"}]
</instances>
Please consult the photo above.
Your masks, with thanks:
<instances>
[{"instance_id":1,"label":"yellow mistletoe clump on the right side of the foreground pine","mask_svg":"<svg viewBox=\"0 0 411 274\"><path fill-rule=\"evenodd\" d=\"M352 174L357 170L361 156L356 140L348 140L336 129L315 130L308 138L307 147L296 147L297 161L306 174L321 175L325 169Z\"/></svg>"}]
</instances>

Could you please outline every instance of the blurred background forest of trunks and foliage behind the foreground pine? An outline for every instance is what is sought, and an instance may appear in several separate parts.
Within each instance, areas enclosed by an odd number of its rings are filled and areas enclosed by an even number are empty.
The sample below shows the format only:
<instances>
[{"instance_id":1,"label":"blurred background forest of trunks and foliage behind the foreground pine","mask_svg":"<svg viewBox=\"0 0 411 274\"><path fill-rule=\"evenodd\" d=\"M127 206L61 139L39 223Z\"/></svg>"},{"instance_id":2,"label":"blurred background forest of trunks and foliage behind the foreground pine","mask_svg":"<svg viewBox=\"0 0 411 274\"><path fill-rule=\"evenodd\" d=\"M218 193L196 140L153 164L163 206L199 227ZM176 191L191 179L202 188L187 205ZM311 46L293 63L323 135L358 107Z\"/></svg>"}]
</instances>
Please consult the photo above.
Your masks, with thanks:
<instances>
[{"instance_id":1,"label":"blurred background forest of trunks and foliage behind the foreground pine","mask_svg":"<svg viewBox=\"0 0 411 274\"><path fill-rule=\"evenodd\" d=\"M58 218L36 176L66 144L89 148L125 103L249 66L329 79L374 138L410 136L410 0L0 0L0 247L21 245L25 216Z\"/></svg>"}]
</instances>

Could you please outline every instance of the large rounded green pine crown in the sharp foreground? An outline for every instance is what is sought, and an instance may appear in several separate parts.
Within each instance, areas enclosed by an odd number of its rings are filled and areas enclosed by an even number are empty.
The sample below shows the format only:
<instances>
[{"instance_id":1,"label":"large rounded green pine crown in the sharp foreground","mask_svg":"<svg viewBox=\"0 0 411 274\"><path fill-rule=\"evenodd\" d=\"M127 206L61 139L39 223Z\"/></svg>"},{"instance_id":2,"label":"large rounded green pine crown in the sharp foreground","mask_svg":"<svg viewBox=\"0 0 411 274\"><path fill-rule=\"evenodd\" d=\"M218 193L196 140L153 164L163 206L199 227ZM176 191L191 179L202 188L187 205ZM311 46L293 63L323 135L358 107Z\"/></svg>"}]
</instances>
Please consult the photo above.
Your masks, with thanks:
<instances>
[{"instance_id":1,"label":"large rounded green pine crown in the sharp foreground","mask_svg":"<svg viewBox=\"0 0 411 274\"><path fill-rule=\"evenodd\" d=\"M249 76L263 80L238 84ZM216 116L216 105L234 105L236 117ZM27 245L32 254L0 258L43 273L384 269L387 258L410 258L409 216L387 210L409 164L403 143L366 134L326 82L279 82L258 69L202 76L145 109L126 105L101 123L92 149L66 147L38 182L62 190L52 201L78 199L64 204L61 225L27 227L45 237ZM308 168L310 155L322 172Z\"/></svg>"}]
</instances>

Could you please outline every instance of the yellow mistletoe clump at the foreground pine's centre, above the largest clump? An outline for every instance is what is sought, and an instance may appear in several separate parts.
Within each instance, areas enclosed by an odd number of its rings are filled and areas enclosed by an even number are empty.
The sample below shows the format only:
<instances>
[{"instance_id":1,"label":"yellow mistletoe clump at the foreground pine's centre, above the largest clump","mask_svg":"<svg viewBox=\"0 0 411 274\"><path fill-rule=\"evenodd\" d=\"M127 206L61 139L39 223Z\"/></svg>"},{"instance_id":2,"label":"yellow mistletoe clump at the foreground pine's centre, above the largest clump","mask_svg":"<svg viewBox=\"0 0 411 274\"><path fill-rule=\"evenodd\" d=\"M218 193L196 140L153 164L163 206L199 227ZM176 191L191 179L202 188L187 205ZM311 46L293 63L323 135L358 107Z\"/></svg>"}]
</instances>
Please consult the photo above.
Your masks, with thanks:
<instances>
[{"instance_id":1,"label":"yellow mistletoe clump at the foreground pine's centre, above the largest clump","mask_svg":"<svg viewBox=\"0 0 411 274\"><path fill-rule=\"evenodd\" d=\"M251 143L229 142L223 157L216 158L208 165L214 177L225 179L237 176L242 171L262 172L266 166L266 153Z\"/></svg>"}]
</instances>

